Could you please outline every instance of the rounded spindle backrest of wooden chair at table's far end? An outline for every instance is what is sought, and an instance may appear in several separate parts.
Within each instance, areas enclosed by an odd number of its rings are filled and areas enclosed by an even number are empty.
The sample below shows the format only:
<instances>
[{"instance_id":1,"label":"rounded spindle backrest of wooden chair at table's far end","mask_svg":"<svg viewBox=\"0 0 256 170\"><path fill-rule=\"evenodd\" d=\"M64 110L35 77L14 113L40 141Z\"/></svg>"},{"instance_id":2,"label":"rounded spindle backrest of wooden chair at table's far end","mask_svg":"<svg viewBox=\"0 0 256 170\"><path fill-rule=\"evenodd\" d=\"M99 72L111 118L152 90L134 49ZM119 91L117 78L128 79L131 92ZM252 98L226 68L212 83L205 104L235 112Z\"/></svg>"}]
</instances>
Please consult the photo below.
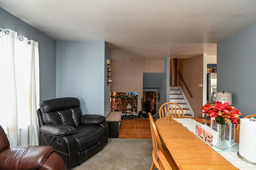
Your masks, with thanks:
<instances>
[{"instance_id":1,"label":"rounded spindle backrest of wooden chair at table's far end","mask_svg":"<svg viewBox=\"0 0 256 170\"><path fill-rule=\"evenodd\" d=\"M184 117L182 107L174 102L166 102L160 106L159 117Z\"/></svg>"}]
</instances>

